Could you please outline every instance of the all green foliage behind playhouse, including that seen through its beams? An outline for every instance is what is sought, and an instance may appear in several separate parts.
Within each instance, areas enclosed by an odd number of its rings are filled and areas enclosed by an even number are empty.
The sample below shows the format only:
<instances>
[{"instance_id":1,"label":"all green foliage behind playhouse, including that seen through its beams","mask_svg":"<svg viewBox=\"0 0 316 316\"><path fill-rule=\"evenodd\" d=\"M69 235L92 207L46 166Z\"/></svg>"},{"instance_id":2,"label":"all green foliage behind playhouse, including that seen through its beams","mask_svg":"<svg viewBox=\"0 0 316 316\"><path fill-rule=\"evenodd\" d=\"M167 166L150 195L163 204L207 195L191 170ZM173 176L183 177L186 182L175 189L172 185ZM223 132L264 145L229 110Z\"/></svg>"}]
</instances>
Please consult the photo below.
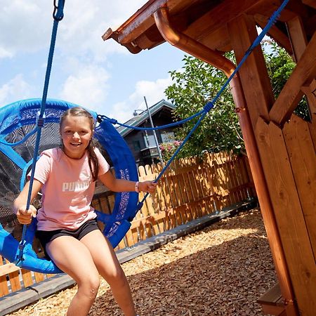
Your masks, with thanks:
<instances>
[{"instance_id":1,"label":"all green foliage behind playhouse, including that seen through its beams","mask_svg":"<svg viewBox=\"0 0 316 316\"><path fill-rule=\"evenodd\" d=\"M268 48L263 52L272 90L277 97L294 70L295 63L277 44L268 44ZM235 62L232 53L227 53L226 57ZM182 70L169 72L173 83L165 91L168 99L176 105L176 110L173 112L175 119L185 119L202 110L209 100L213 100L227 80L222 71L197 58L185 55L183 62ZM298 107L296 112L304 117L306 106ZM183 140L196 121L197 119L193 119L179 128L176 133L177 139ZM244 141L228 86L179 155L180 157L201 156L204 151L230 150L234 152L244 150Z\"/></svg>"}]
</instances>

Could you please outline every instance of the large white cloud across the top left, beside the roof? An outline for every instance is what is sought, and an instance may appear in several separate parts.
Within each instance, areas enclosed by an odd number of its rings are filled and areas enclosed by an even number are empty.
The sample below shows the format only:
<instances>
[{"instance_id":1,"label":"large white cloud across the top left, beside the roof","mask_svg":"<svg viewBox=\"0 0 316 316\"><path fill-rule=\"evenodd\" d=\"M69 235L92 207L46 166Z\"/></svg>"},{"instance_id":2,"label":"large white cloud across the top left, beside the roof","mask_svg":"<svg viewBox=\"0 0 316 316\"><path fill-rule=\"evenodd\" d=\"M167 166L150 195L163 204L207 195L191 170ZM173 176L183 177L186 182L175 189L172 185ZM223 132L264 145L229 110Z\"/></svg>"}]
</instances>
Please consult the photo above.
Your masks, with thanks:
<instances>
[{"instance_id":1,"label":"large white cloud across the top left, beside the roof","mask_svg":"<svg viewBox=\"0 0 316 316\"><path fill-rule=\"evenodd\" d=\"M147 0L65 1L56 48L65 54L70 51L77 55L90 53L96 60L104 59L107 53L127 53L126 48L112 41L104 42L101 37L109 27L121 25L145 2ZM36 52L48 48L52 13L53 1L1 1L0 58L12 57L19 51Z\"/></svg>"}]
</instances>

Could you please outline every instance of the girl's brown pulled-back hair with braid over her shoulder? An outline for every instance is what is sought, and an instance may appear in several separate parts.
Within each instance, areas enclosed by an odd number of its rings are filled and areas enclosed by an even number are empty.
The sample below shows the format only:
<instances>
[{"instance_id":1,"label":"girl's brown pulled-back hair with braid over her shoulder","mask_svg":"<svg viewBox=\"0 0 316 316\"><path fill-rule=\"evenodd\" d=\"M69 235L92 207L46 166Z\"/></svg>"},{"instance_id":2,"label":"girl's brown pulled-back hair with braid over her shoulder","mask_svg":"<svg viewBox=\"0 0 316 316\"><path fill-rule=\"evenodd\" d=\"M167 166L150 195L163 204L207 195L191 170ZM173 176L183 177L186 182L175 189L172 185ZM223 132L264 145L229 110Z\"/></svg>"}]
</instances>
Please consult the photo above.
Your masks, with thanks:
<instances>
[{"instance_id":1,"label":"girl's brown pulled-back hair with braid over her shoulder","mask_svg":"<svg viewBox=\"0 0 316 316\"><path fill-rule=\"evenodd\" d=\"M65 111L62 116L60 117L60 127L62 126L63 121L66 117L86 117L90 122L91 131L93 132L95 128L95 122L92 117L92 115L87 111L84 110L82 107L70 107L67 111ZM62 144L63 147L63 144ZM98 157L96 156L96 153L94 152L95 146L93 145L93 140L91 139L88 147L86 148L88 150L88 164L89 168L91 170L93 181L96 181L98 179L98 173L99 173L99 162Z\"/></svg>"}]
</instances>

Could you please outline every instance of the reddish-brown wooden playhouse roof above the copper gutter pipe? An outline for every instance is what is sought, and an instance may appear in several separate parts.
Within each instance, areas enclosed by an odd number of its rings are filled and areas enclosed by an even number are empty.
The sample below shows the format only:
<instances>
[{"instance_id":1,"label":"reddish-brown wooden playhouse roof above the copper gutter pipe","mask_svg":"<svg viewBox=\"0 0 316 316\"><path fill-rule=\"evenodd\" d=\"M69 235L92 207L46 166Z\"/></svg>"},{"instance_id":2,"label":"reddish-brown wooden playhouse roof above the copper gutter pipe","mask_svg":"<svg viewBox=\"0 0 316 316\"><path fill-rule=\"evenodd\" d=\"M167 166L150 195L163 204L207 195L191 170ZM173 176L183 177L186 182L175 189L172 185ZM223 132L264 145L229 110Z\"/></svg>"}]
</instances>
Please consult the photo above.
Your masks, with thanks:
<instances>
[{"instance_id":1,"label":"reddish-brown wooden playhouse roof above the copper gutter pipe","mask_svg":"<svg viewBox=\"0 0 316 316\"><path fill-rule=\"evenodd\" d=\"M119 28L107 29L103 39L114 39L126 46L131 53L139 53L164 42L154 22L153 13L167 7L173 26L180 32L207 45L209 48L231 51L227 23L238 15L252 15L259 27L264 27L268 18L282 4L280 0L150 0ZM270 29L269 35L292 53L284 22L301 16L308 37L316 27L316 1L292 0L282 11L279 21Z\"/></svg>"}]
</instances>

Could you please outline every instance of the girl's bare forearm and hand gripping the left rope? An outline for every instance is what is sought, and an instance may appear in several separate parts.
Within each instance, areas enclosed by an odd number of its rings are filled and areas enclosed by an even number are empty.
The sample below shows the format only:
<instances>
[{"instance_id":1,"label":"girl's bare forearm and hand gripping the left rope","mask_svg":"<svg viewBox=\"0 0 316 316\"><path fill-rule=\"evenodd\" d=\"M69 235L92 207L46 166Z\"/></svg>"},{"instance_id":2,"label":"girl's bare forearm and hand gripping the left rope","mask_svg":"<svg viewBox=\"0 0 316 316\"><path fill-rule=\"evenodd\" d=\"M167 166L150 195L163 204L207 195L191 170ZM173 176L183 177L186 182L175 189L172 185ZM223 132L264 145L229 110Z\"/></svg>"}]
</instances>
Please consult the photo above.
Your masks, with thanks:
<instances>
[{"instance_id":1,"label":"girl's bare forearm and hand gripping the left rope","mask_svg":"<svg viewBox=\"0 0 316 316\"><path fill-rule=\"evenodd\" d=\"M41 190L42 184L39 180L34 179L31 192L31 201L37 197L37 193ZM15 199L13 203L13 211L15 211L18 216L18 221L21 224L31 223L32 217L37 215L37 209L33 205L29 205L29 209L26 209L27 206L27 195L29 194L29 181L23 187L23 190L20 192L20 195Z\"/></svg>"}]
</instances>

